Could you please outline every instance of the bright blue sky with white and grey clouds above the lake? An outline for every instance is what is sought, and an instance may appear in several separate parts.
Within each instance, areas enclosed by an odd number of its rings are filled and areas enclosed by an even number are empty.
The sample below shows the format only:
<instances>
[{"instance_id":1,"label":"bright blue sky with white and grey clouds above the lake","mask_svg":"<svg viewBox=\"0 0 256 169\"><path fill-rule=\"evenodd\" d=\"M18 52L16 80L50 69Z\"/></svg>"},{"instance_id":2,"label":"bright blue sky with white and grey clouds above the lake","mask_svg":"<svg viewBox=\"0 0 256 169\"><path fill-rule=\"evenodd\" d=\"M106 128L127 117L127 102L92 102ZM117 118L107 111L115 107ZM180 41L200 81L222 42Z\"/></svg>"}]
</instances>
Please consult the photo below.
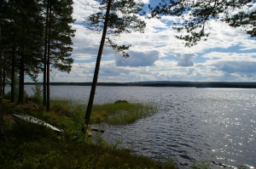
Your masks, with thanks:
<instances>
[{"instance_id":1,"label":"bright blue sky with white and grey clouds above the lake","mask_svg":"<svg viewBox=\"0 0 256 169\"><path fill-rule=\"evenodd\" d=\"M157 0L143 0L154 4ZM72 70L51 71L51 82L92 82L96 56L102 34L90 33L84 28L84 17L96 12L86 3L94 0L73 0L72 27L74 59ZM224 22L207 23L210 36L192 48L184 46L172 29L177 17L163 16L145 19L144 33L132 32L115 37L115 42L130 44L130 58L121 58L112 48L104 48L98 82L256 82L256 40L241 28ZM42 75L38 76L41 82Z\"/></svg>"}]
</instances>

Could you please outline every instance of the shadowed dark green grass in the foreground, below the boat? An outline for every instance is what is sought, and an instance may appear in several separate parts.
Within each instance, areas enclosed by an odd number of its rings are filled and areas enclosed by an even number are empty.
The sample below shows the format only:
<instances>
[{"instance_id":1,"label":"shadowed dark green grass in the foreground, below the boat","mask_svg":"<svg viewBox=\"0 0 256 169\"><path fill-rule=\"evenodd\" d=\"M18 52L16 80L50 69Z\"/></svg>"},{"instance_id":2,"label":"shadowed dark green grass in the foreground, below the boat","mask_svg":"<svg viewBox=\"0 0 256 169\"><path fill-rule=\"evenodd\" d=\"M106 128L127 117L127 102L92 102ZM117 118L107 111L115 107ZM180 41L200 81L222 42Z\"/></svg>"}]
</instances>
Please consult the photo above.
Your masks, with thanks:
<instances>
[{"instance_id":1,"label":"shadowed dark green grass in the foreground, below the boat","mask_svg":"<svg viewBox=\"0 0 256 169\"><path fill-rule=\"evenodd\" d=\"M165 168L122 149L79 143L46 127L13 124L0 139L0 168Z\"/></svg>"}]
</instances>

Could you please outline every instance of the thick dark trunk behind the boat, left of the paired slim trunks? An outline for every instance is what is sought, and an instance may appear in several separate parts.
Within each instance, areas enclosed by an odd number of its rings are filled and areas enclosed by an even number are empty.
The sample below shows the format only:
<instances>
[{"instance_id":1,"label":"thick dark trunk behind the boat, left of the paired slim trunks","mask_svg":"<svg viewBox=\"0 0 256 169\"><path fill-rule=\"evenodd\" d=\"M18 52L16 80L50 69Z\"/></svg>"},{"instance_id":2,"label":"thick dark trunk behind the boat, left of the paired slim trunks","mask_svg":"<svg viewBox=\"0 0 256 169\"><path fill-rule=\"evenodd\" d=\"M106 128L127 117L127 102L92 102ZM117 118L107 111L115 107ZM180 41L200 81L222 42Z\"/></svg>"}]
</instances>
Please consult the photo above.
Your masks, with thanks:
<instances>
[{"instance_id":1,"label":"thick dark trunk behind the boat, left of the paired slim trunks","mask_svg":"<svg viewBox=\"0 0 256 169\"><path fill-rule=\"evenodd\" d=\"M25 56L24 56L24 42L23 42L23 51L20 54L20 84L19 84L19 100L17 104L24 104L24 65L25 65Z\"/></svg>"}]
</instances>

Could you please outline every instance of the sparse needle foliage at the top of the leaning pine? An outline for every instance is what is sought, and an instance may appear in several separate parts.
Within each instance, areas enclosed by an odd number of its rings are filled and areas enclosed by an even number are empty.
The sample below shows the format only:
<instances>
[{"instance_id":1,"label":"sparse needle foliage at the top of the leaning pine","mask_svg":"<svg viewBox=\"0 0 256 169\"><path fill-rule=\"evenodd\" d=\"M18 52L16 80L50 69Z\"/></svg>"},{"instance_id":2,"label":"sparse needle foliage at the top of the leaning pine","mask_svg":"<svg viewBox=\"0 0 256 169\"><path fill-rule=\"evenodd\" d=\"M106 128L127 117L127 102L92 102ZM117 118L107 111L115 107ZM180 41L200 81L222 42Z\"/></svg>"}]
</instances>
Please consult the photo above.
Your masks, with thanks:
<instances>
[{"instance_id":1,"label":"sparse needle foliage at the top of the leaning pine","mask_svg":"<svg viewBox=\"0 0 256 169\"><path fill-rule=\"evenodd\" d=\"M122 33L131 33L131 31L140 31L143 33L146 23L139 19L140 13L143 11L143 3L137 3L134 0L115 0L105 1L98 0L98 5L102 12L90 14L84 18L85 27L91 32L103 31L104 22L106 20L105 11L107 4L111 3L110 14L108 16L108 31L106 46L113 48L118 54L124 58L128 58L129 54L126 53L131 45L117 45L113 42L115 37L119 37Z\"/></svg>"}]
</instances>

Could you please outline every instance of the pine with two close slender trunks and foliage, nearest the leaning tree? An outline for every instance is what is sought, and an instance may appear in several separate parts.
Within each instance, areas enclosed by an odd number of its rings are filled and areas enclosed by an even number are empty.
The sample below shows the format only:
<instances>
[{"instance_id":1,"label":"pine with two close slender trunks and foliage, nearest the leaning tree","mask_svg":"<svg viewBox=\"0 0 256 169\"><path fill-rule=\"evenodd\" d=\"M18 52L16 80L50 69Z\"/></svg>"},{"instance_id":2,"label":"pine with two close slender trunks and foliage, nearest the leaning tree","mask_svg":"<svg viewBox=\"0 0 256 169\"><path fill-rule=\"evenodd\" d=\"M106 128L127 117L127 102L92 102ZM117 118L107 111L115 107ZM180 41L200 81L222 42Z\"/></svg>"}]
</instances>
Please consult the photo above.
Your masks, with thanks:
<instances>
[{"instance_id":1,"label":"pine with two close slender trunks and foliage, nearest the leaning tree","mask_svg":"<svg viewBox=\"0 0 256 169\"><path fill-rule=\"evenodd\" d=\"M73 0L46 0L44 14L44 105L49 110L49 71L50 65L55 69L70 72L73 59L71 52L73 44L71 37L74 37L74 30L70 23L73 23Z\"/></svg>"}]
</instances>

